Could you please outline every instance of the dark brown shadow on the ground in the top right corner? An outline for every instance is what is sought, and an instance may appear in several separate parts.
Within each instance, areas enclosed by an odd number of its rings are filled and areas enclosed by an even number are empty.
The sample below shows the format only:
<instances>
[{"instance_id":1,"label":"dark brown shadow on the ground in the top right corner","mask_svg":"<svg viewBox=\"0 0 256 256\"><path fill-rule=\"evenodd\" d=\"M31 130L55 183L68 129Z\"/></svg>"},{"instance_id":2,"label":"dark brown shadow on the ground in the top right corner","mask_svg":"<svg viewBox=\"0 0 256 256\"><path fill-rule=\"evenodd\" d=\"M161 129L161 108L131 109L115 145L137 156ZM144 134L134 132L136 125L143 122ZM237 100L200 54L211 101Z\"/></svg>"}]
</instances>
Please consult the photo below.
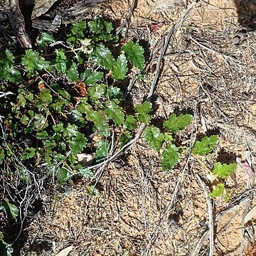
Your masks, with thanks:
<instances>
[{"instance_id":1,"label":"dark brown shadow on the ground in the top right corner","mask_svg":"<svg viewBox=\"0 0 256 256\"><path fill-rule=\"evenodd\" d=\"M256 30L256 0L234 0L234 2L240 25L243 28Z\"/></svg>"}]
</instances>

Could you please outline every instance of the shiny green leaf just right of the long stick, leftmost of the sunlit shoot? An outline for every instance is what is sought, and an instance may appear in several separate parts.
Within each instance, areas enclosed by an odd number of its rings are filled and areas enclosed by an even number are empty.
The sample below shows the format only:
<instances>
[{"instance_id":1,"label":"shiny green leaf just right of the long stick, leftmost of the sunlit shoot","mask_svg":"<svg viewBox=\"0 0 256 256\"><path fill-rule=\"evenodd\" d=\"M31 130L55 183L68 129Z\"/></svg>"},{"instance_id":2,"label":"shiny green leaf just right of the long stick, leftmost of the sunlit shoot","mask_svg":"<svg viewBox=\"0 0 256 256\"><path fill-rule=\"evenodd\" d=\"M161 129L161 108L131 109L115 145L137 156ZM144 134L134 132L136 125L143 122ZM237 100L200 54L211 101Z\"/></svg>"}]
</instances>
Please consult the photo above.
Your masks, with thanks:
<instances>
[{"instance_id":1,"label":"shiny green leaf just right of the long stick, leftmost of the sunlit shoot","mask_svg":"<svg viewBox=\"0 0 256 256\"><path fill-rule=\"evenodd\" d=\"M164 142L164 134L160 129L154 126L149 126L144 130L144 138L154 150L159 150Z\"/></svg>"}]
</instances>

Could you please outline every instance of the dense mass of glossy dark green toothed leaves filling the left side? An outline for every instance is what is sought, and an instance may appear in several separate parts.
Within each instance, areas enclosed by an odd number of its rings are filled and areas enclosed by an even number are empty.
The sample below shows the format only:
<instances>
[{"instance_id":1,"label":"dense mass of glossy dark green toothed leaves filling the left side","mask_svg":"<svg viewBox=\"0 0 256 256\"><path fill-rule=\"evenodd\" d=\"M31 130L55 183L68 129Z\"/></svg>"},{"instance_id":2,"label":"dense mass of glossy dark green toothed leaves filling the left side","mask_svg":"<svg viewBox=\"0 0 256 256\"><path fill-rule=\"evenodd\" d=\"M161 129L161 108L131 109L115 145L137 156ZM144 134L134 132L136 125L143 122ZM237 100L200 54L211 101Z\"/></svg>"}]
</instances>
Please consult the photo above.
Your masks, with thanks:
<instances>
[{"instance_id":1,"label":"dense mass of glossy dark green toothed leaves filling the left side","mask_svg":"<svg viewBox=\"0 0 256 256\"><path fill-rule=\"evenodd\" d=\"M103 161L111 146L123 146L139 123L149 122L151 103L127 114L122 92L131 70L144 66L142 46L121 42L112 23L102 19L74 23L64 38L42 33L36 49L20 56L1 49L0 90L10 96L0 98L6 182L22 188L42 176L55 176L60 184L91 178L89 164ZM99 195L94 185L87 191ZM0 210L16 221L15 202L4 199ZM4 254L11 255L0 235Z\"/></svg>"}]
</instances>

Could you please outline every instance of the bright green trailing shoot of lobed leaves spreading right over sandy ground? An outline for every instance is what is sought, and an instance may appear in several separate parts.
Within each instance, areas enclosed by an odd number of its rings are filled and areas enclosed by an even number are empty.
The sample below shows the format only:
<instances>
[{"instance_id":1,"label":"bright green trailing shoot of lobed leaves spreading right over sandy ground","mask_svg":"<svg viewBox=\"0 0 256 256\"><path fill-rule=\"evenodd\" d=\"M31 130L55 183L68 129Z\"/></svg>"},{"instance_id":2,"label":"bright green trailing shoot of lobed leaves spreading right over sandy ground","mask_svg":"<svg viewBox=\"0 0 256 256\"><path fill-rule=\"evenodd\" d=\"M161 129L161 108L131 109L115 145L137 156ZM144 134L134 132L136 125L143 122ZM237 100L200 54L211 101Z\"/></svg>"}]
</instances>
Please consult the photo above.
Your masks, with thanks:
<instances>
[{"instance_id":1,"label":"bright green trailing shoot of lobed leaves spreading right over sandy ground","mask_svg":"<svg viewBox=\"0 0 256 256\"><path fill-rule=\"evenodd\" d=\"M185 129L192 120L191 114L171 114L171 116L164 121L163 129L154 127L153 125L146 127L144 130L144 139L156 151L161 151L161 167L164 171L169 171L174 168L181 159L182 153L188 151L186 146L176 146L174 144L174 135ZM191 151L193 156L206 157L212 153L213 148L218 142L218 137L212 135L210 137L203 137L201 141L196 141ZM225 200L229 198L229 190L225 189L225 178L235 171L235 164L215 163L212 173L218 178L218 183L215 189L209 194L211 198L222 196L225 193Z\"/></svg>"}]
</instances>

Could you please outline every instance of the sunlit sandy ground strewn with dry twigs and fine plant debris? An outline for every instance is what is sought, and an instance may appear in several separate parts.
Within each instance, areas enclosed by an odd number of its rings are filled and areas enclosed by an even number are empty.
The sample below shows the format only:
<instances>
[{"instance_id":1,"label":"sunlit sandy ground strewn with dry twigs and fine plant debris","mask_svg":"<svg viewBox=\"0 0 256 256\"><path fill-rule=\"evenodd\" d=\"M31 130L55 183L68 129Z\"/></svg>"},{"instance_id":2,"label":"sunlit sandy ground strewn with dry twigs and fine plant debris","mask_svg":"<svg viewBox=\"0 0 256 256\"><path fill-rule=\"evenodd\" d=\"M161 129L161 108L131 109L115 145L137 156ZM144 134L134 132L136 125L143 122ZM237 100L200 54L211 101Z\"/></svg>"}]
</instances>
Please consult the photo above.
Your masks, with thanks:
<instances>
[{"instance_id":1,"label":"sunlit sandy ground strewn with dry twigs and fine plant debris","mask_svg":"<svg viewBox=\"0 0 256 256\"><path fill-rule=\"evenodd\" d=\"M190 142L218 133L218 149L208 164L188 155L163 172L159 153L139 139L126 159L99 172L100 197L88 196L85 184L78 183L73 191L57 193L55 203L45 203L44 214L34 215L26 228L23 255L53 255L70 243L72 255L255 255L256 34L241 25L246 18L241 8L253 14L255 6L198 1L183 16L186 8L160 11L154 7L159 3L138 1L129 16L132 3L117 0L102 14L120 23L129 17L123 31L149 43L153 73L161 39L184 18L171 35L154 88L156 122L174 111L191 112L191 132L183 138ZM159 23L161 28L151 31L151 24ZM233 41L243 29L245 38ZM134 82L134 102L148 94L153 78ZM209 205L210 164L237 157L235 174L226 181L228 202L218 198Z\"/></svg>"}]
</instances>

